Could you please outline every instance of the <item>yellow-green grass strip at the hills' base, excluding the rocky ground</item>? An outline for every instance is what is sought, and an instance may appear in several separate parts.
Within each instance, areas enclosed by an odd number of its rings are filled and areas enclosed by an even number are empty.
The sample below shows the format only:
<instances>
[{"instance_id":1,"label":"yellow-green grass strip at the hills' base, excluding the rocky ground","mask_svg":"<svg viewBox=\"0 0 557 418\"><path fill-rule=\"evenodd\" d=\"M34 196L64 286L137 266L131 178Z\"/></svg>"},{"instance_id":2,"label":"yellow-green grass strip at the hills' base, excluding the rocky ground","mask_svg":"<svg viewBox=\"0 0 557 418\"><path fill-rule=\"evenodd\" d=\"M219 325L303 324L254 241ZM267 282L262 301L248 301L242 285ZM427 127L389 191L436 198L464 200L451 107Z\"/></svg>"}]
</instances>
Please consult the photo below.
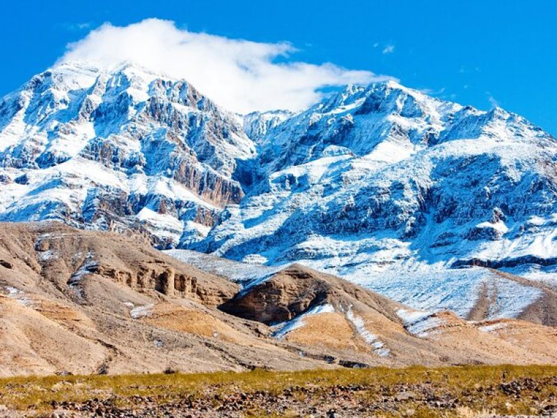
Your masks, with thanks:
<instances>
[{"instance_id":1,"label":"yellow-green grass strip at the hills' base, excluding the rocky ground","mask_svg":"<svg viewBox=\"0 0 557 418\"><path fill-rule=\"evenodd\" d=\"M133 395L152 396L157 401L169 402L189 395L203 396L208 387L217 388L222 394L238 391L278 394L292 387L326 390L338 385L362 385L365 389L355 392L355 396L361 401L375 402L385 393L395 393L400 385L427 382L436 391L457 398L466 407L429 410L423 405L405 403L405 408L412 410L413 416L481 417L482 413L492 411L501 414L532 412L528 396L517 397L501 392L498 389L501 382L549 378L535 395L555 398L557 387L552 379L555 376L556 366L453 366L435 369L412 366L405 369L379 367L297 372L256 370L243 373L7 378L0 380L0 403L18 410L40 411L48 410L52 401L81 402L113 395L130 399L130 402ZM484 396L485 388L491 388L492 394Z\"/></svg>"}]
</instances>

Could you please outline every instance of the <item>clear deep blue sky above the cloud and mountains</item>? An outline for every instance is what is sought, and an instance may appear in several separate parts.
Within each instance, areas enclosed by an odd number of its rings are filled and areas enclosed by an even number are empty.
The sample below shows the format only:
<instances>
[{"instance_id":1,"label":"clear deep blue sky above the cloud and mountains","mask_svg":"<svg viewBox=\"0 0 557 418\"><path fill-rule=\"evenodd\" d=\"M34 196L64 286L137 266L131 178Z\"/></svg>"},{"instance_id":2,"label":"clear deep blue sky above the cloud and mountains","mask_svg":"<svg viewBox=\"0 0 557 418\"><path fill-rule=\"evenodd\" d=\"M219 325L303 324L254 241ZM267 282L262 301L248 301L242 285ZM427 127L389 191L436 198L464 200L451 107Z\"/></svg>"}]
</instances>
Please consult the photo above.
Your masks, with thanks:
<instances>
[{"instance_id":1,"label":"clear deep blue sky above the cloud and mountains","mask_svg":"<svg viewBox=\"0 0 557 418\"><path fill-rule=\"evenodd\" d=\"M6 2L8 3L8 2ZM497 104L557 134L557 3L552 1L10 1L0 15L0 94L104 22L148 17L256 42L291 59L391 75L439 98Z\"/></svg>"}]
</instances>

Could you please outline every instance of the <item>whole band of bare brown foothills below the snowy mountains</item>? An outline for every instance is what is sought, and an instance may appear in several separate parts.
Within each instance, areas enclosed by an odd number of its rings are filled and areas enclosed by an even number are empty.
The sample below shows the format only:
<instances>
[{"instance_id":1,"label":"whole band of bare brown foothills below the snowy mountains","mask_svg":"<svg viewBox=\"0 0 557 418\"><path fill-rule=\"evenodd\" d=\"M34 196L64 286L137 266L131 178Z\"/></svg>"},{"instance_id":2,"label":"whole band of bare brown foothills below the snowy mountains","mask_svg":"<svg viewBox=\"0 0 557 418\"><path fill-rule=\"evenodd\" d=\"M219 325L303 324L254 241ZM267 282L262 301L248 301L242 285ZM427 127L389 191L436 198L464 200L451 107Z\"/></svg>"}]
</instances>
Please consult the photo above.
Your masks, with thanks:
<instances>
[{"instance_id":1,"label":"whole band of bare brown foothills below the snowy mountains","mask_svg":"<svg viewBox=\"0 0 557 418\"><path fill-rule=\"evenodd\" d=\"M139 236L0 224L0 376L557 364L552 327L417 312L299 265L269 274L240 291Z\"/></svg>"}]
</instances>

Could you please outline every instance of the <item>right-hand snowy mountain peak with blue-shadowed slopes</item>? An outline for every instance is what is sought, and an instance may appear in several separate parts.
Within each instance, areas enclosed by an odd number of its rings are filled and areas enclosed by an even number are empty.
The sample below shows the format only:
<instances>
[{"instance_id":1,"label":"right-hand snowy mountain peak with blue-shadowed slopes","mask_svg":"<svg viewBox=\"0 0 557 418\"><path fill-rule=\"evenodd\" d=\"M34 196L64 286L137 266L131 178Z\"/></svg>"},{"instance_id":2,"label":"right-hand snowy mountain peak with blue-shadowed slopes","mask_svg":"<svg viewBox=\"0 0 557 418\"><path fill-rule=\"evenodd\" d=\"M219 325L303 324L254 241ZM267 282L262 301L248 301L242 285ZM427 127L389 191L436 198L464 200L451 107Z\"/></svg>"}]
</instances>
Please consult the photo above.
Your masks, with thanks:
<instances>
[{"instance_id":1,"label":"right-hand snowy mountain peak with blue-shadowed slopes","mask_svg":"<svg viewBox=\"0 0 557 418\"><path fill-rule=\"evenodd\" d=\"M553 277L557 143L520 116L384 82L349 86L254 141L258 182L195 249L304 263L462 316L493 280L506 302L492 317L516 316L540 293L457 268Z\"/></svg>"}]
</instances>

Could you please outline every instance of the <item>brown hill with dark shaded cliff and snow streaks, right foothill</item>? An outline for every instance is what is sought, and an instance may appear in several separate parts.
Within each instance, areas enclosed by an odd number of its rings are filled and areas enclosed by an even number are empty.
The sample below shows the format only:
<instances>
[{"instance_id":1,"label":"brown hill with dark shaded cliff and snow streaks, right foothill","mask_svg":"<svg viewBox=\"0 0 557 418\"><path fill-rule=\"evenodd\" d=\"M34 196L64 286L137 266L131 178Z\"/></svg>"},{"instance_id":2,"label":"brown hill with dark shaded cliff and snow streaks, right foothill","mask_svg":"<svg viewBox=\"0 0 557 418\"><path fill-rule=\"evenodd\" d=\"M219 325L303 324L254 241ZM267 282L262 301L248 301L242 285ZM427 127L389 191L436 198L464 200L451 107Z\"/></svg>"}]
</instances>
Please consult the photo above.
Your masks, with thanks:
<instances>
[{"instance_id":1,"label":"brown hill with dark shaded cliff and snow streaks, right foothill","mask_svg":"<svg viewBox=\"0 0 557 418\"><path fill-rule=\"evenodd\" d=\"M296 264L244 289L220 309L278 324L273 329L285 341L339 353L373 353L370 364L557 361L557 332L552 327L506 320L515 334L494 333L483 322L462 320L448 311L413 311ZM521 340L517 334L531 338Z\"/></svg>"}]
</instances>

